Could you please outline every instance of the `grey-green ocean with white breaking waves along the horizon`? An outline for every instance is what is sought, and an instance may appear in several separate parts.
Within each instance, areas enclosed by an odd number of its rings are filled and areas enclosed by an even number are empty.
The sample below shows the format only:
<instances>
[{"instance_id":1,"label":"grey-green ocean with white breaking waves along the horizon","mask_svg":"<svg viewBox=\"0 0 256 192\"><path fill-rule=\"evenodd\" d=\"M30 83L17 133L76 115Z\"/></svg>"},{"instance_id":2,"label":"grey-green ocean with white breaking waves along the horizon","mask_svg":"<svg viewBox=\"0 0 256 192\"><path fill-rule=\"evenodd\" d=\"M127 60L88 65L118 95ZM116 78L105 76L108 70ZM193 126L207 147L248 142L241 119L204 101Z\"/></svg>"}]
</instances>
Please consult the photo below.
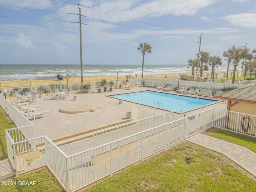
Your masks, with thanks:
<instances>
[{"instance_id":1,"label":"grey-green ocean with white breaking waves along the horizon","mask_svg":"<svg viewBox=\"0 0 256 192\"><path fill-rule=\"evenodd\" d=\"M188 65L144 65L144 75L192 72ZM215 71L226 70L219 66ZM210 71L211 68L209 67ZM141 75L141 65L84 65L83 77ZM68 64L0 64L0 80L56 80L56 75L80 77L80 65Z\"/></svg>"}]
</instances>

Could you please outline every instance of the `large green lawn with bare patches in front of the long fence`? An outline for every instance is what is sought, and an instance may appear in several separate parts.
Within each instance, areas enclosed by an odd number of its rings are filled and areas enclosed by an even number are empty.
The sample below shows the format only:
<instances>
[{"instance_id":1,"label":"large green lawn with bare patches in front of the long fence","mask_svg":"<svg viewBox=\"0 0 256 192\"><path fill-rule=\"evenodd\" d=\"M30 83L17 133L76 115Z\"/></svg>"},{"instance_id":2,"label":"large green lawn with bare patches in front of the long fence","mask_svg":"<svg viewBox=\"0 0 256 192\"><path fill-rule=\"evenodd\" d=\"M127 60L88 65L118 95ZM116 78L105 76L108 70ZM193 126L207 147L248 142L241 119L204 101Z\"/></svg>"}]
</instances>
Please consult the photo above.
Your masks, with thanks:
<instances>
[{"instance_id":1,"label":"large green lawn with bare patches in front of the long fence","mask_svg":"<svg viewBox=\"0 0 256 192\"><path fill-rule=\"evenodd\" d=\"M255 181L225 156L183 142L97 182L84 192L251 192L256 191Z\"/></svg>"}]
</instances>

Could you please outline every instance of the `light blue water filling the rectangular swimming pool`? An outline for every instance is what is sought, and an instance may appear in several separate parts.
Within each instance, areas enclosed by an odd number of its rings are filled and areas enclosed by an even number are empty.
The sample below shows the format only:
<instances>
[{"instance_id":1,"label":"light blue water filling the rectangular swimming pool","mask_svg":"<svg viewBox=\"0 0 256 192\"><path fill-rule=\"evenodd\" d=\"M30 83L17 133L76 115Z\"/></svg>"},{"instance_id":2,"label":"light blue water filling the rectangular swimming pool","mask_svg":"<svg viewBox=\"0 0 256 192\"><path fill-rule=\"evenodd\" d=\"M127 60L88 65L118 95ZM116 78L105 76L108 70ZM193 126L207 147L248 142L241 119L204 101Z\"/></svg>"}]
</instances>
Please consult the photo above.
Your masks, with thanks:
<instances>
[{"instance_id":1,"label":"light blue water filling the rectangular swimming pool","mask_svg":"<svg viewBox=\"0 0 256 192\"><path fill-rule=\"evenodd\" d=\"M175 94L166 94L154 91L142 91L111 96L114 98L119 98L150 106L154 106L155 101L161 102L161 104L159 105L160 108L165 108L168 110L182 109L182 111L190 110L196 107L216 102L216 100L178 96ZM158 105L156 102L155 107L157 107Z\"/></svg>"}]
</instances>

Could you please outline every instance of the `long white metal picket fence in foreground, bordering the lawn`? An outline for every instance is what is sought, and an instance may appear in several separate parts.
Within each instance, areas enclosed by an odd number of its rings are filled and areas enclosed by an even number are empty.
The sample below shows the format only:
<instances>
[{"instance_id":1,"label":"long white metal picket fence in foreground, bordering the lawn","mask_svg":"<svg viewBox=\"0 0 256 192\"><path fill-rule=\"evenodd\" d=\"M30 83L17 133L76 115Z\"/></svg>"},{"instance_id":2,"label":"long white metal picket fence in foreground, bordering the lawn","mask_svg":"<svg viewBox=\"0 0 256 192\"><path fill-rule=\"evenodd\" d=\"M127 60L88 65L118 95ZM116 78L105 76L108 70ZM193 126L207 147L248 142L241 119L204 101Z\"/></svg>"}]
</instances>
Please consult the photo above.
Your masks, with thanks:
<instances>
[{"instance_id":1,"label":"long white metal picket fence in foreground, bordering the lawn","mask_svg":"<svg viewBox=\"0 0 256 192\"><path fill-rule=\"evenodd\" d=\"M212 126L256 137L256 116L210 109L70 156L46 136L20 138L29 126L12 128L6 130L8 158L16 174L47 166L66 191L75 191Z\"/></svg>"}]
</instances>

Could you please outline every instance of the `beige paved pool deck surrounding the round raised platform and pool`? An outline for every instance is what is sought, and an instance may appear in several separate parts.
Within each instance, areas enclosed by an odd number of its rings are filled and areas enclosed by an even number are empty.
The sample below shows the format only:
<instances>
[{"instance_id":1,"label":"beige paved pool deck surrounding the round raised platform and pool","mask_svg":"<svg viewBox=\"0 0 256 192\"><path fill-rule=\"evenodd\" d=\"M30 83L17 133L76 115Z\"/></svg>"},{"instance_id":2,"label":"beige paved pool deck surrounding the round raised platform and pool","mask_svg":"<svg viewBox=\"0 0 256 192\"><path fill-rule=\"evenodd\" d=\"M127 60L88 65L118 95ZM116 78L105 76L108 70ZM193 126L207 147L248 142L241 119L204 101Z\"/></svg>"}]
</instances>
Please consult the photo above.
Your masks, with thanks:
<instances>
[{"instance_id":1,"label":"beige paved pool deck surrounding the round raised platform and pool","mask_svg":"<svg viewBox=\"0 0 256 192\"><path fill-rule=\"evenodd\" d=\"M155 88L141 86L134 87L132 90L116 89L113 90L113 92L70 94L70 98L66 100L53 100L52 96L44 97L43 101L37 104L40 105L39 110L48 110L48 114L46 114L46 118L32 122L34 124L35 137L46 135L51 140L58 141L75 135L96 131L101 128L107 128L128 121L135 121L168 112L166 110L127 101L123 101L122 104L119 104L118 99L106 96L144 90L156 91ZM175 94L176 92L170 93ZM77 96L77 100L73 100L73 96ZM90 104L97 110L78 114L60 112L61 107L72 104ZM185 112L183 116L189 116L211 108L226 109L226 106L227 102L220 102L194 111ZM131 119L126 118L126 112L132 112ZM82 146L80 149L67 149L64 150L64 152L80 152L81 150L83 150Z\"/></svg>"}]
</instances>

